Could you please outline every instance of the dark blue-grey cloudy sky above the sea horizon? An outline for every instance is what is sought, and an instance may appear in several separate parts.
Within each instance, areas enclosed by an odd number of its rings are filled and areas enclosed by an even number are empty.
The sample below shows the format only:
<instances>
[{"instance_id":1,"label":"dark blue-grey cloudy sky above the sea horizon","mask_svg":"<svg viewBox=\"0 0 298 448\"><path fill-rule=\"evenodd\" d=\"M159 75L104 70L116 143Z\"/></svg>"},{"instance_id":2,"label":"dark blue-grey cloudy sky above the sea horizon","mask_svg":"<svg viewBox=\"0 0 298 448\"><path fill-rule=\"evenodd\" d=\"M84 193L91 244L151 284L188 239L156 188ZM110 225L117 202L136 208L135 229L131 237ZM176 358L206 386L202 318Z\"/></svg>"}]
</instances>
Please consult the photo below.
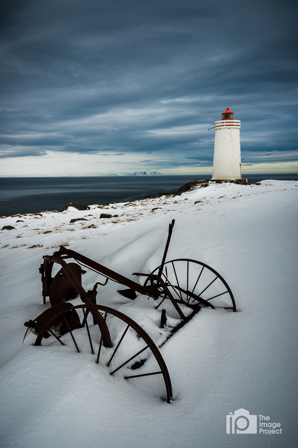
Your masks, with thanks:
<instances>
[{"instance_id":1,"label":"dark blue-grey cloudy sky above the sea horizon","mask_svg":"<svg viewBox=\"0 0 298 448\"><path fill-rule=\"evenodd\" d=\"M298 172L296 0L6 0L0 175Z\"/></svg>"}]
</instances>

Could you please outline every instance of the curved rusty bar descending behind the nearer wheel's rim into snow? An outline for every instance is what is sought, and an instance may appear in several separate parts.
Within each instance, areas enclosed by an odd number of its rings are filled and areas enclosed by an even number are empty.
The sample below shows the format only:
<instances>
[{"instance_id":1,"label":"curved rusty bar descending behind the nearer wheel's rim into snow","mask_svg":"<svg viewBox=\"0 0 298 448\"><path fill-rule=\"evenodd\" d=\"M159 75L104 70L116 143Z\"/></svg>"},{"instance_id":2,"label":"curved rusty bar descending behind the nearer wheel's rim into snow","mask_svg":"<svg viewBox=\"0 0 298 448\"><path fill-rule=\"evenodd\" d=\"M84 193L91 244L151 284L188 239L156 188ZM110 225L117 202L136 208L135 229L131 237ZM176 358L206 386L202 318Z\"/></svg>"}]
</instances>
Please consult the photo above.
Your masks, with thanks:
<instances>
[{"instance_id":1,"label":"curved rusty bar descending behind the nearer wheel's rim into snow","mask_svg":"<svg viewBox=\"0 0 298 448\"><path fill-rule=\"evenodd\" d=\"M90 299L90 297L84 290L83 286L77 280L75 274L71 271L70 267L68 267L67 263L63 259L61 259L59 257L50 256L50 255L46 255L45 259L49 260L52 263L60 264L60 266L63 267L63 270L66 273L67 277L73 284L74 288L80 294L80 298L81 298L82 302L84 302L86 305L93 305L92 300ZM112 344L111 336L109 334L109 329L107 327L107 324L105 323L104 318L102 317L100 312L96 309L92 309L92 310L90 310L90 312L91 312L93 318L95 319L95 322L97 323L98 327L100 328L101 334L103 335L103 345L105 347L112 347L113 344ZM86 322L86 325L88 325L87 322Z\"/></svg>"}]
</instances>

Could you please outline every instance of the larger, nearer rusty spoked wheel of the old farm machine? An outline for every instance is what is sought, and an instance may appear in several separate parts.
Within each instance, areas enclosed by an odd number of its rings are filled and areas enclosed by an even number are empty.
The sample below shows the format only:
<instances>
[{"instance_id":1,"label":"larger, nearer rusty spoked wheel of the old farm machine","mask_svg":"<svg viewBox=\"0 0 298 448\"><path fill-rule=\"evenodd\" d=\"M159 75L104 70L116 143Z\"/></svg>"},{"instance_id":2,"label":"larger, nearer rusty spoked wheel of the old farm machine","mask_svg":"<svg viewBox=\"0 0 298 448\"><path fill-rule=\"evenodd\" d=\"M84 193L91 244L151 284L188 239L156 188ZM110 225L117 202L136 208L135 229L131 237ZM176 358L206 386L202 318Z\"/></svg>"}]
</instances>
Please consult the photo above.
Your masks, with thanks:
<instances>
[{"instance_id":1,"label":"larger, nearer rusty spoked wheel of the old farm machine","mask_svg":"<svg viewBox=\"0 0 298 448\"><path fill-rule=\"evenodd\" d=\"M94 309L104 317L103 334L98 325L93 325L90 311ZM61 336L59 329L53 326L54 321L59 319L67 324L66 311L61 311L44 325L34 345L41 345L44 335L50 333L51 338L44 340L47 345L59 341L62 345L73 345L74 351L79 353L92 353L94 361L107 366L110 375L132 379L136 386L153 389L156 395L161 393L168 403L172 400L168 368L154 341L142 327L130 317L108 306L78 305L73 310L80 317L80 328L71 330L68 327L69 332ZM111 348L103 345L105 332L111 336Z\"/></svg>"}]
</instances>

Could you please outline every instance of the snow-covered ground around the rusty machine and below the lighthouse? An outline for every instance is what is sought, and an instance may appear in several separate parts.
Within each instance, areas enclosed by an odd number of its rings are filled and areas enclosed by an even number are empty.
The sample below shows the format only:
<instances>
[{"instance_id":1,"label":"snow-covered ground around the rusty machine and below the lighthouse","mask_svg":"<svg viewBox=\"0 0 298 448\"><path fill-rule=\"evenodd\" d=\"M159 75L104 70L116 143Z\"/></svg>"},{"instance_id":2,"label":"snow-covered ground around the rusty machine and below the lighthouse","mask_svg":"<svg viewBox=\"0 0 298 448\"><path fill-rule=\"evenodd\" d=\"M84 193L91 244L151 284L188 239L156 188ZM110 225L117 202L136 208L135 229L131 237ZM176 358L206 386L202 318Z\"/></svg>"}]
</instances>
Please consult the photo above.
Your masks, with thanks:
<instances>
[{"instance_id":1,"label":"snow-covered ground around the rusty machine and below the lighthouse","mask_svg":"<svg viewBox=\"0 0 298 448\"><path fill-rule=\"evenodd\" d=\"M296 447L297 185L213 184L175 197L2 219L1 228L15 229L0 233L1 447ZM81 217L87 221L70 224ZM42 255L65 245L142 283L131 274L160 264L173 218L167 259L213 267L238 312L202 307L161 347L171 404L154 386L111 377L71 345L34 347L33 334L22 345L24 322L50 306L42 304ZM102 279L89 271L83 285ZM100 286L97 303L136 321L146 307L153 316L151 300L131 302L117 289L110 281ZM226 416L239 408L257 415L258 434L227 434ZM282 433L259 434L259 415L279 422Z\"/></svg>"}]
</instances>

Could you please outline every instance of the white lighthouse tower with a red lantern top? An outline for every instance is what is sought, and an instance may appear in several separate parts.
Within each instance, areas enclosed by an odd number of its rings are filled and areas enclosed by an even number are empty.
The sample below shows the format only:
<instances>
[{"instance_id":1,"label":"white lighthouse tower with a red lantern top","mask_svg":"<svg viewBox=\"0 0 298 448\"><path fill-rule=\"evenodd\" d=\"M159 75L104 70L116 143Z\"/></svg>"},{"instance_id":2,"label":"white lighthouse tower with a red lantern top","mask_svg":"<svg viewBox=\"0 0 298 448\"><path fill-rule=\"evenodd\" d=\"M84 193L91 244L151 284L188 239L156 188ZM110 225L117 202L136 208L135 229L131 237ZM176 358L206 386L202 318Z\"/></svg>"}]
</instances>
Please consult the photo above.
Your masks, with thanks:
<instances>
[{"instance_id":1,"label":"white lighthouse tower with a red lantern top","mask_svg":"<svg viewBox=\"0 0 298 448\"><path fill-rule=\"evenodd\" d=\"M240 120L229 108L215 121L212 179L241 179Z\"/></svg>"}]
</instances>

